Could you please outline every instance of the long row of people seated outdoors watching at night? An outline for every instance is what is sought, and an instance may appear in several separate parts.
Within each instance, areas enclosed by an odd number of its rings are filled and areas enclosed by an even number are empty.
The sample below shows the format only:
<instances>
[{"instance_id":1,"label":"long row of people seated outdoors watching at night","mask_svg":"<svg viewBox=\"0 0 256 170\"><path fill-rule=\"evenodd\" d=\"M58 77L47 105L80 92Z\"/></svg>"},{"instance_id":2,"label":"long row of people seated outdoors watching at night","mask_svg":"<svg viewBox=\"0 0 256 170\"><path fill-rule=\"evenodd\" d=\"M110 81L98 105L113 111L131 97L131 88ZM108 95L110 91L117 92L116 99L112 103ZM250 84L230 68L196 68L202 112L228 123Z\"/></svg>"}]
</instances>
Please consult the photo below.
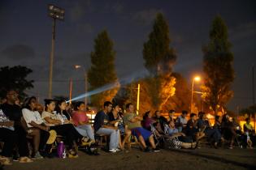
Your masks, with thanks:
<instances>
[{"instance_id":1,"label":"long row of people seated outdoors watching at night","mask_svg":"<svg viewBox=\"0 0 256 170\"><path fill-rule=\"evenodd\" d=\"M107 148L111 153L124 151L131 136L137 138L145 152L159 151L158 138L175 138L182 148L198 147L203 137L215 148L223 141L228 142L230 149L236 141L241 142L242 147L255 146L255 131L249 118L241 130L228 114L216 116L215 125L210 126L206 113L202 112L188 114L184 110L175 117L176 111L170 110L166 118L159 110L137 114L132 103L126 104L123 113L119 104L106 101L91 125L84 102L76 102L71 109L65 100L46 99L44 107L34 96L28 97L22 105L17 104L17 100L17 92L9 90L6 101L0 106L1 164L12 164L12 159L30 163L33 159L50 156L53 131L65 142L69 158L78 157L78 146L96 145L96 138L102 135L108 136ZM29 148L28 143L32 147Z\"/></svg>"}]
</instances>

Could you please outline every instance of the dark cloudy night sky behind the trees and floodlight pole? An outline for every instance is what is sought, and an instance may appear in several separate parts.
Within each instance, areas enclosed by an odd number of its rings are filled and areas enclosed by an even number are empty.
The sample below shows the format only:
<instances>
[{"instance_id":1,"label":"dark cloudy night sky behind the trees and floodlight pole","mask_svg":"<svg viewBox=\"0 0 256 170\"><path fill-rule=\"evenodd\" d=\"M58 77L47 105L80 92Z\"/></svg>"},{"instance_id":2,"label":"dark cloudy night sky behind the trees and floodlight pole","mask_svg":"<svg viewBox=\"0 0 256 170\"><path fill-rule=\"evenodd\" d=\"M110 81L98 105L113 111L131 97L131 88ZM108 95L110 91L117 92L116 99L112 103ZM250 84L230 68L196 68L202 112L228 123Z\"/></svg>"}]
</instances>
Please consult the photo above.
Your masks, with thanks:
<instances>
[{"instance_id":1,"label":"dark cloudy night sky behind the trees and floodlight pole","mask_svg":"<svg viewBox=\"0 0 256 170\"><path fill-rule=\"evenodd\" d=\"M202 74L202 45L209 40L215 15L228 25L234 53L236 79L234 98L228 108L252 104L252 66L256 64L256 2L254 0L1 0L0 66L28 66L34 88L29 95L46 98L52 20L47 4L65 9L65 21L57 22L54 57L53 96L68 96L68 79L75 79L73 96L84 92L83 70L89 68L93 40L106 29L115 42L116 70L119 78L144 71L142 48L152 30L155 14L163 12L170 28L171 46L176 49L174 71L191 82ZM197 85L198 86L198 85Z\"/></svg>"}]
</instances>

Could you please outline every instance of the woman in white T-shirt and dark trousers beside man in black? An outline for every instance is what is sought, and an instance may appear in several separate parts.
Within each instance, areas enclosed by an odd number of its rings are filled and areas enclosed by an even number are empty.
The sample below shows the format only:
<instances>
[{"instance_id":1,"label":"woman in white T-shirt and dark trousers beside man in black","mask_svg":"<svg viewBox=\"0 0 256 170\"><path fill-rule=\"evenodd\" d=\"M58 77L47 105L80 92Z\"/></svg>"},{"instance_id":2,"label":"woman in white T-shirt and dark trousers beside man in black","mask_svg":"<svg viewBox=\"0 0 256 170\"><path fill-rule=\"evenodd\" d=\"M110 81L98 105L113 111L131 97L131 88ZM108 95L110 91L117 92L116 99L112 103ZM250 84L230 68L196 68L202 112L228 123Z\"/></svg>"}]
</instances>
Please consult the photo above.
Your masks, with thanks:
<instances>
[{"instance_id":1,"label":"woman in white T-shirt and dark trousers beside man in black","mask_svg":"<svg viewBox=\"0 0 256 170\"><path fill-rule=\"evenodd\" d=\"M22 109L22 115L24 121L26 121L28 130L31 131L29 136L33 137L33 157L40 159L42 153L46 153L46 142L50 136L48 130L49 126L46 126L41 119L40 113L37 112L37 98L32 96L25 100L24 108Z\"/></svg>"}]
</instances>

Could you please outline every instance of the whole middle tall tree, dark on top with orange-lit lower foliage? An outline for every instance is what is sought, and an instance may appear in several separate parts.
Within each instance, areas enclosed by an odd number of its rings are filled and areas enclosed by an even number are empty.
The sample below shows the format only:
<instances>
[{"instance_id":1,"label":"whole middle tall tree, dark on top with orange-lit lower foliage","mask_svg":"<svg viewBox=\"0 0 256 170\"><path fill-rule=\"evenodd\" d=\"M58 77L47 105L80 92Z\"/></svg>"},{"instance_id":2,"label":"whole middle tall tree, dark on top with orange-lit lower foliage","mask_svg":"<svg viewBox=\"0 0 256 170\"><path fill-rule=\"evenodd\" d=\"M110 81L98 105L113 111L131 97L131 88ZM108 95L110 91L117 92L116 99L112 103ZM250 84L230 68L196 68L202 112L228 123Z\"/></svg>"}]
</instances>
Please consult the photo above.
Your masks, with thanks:
<instances>
[{"instance_id":1,"label":"whole middle tall tree, dark on top with orange-lit lower foliage","mask_svg":"<svg viewBox=\"0 0 256 170\"><path fill-rule=\"evenodd\" d=\"M176 62L175 50L170 47L169 26L163 14L158 13L154 20L153 31L149 40L145 42L143 58L145 68L150 72L146 79L149 87L148 95L152 100L152 107L161 109L170 96L175 93L175 79L171 77L171 70ZM171 85L171 87L170 87Z\"/></svg>"}]
</instances>

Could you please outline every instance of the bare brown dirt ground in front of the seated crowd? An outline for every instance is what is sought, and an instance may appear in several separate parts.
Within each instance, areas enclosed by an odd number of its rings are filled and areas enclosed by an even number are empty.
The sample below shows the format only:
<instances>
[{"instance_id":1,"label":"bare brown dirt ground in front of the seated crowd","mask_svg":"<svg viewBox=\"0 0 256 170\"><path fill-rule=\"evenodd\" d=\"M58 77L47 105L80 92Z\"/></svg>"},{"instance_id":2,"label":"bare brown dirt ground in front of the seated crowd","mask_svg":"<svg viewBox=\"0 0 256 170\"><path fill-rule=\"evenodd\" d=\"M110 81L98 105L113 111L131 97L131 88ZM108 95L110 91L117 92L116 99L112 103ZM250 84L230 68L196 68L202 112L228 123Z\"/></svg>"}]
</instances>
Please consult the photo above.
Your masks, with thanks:
<instances>
[{"instance_id":1,"label":"bare brown dirt ground in front of the seated crowd","mask_svg":"<svg viewBox=\"0 0 256 170\"><path fill-rule=\"evenodd\" d=\"M14 162L4 170L81 170L81 169L256 169L256 149L161 150L145 153L137 148L131 151L88 155L80 151L76 159L37 159L30 164Z\"/></svg>"}]
</instances>

